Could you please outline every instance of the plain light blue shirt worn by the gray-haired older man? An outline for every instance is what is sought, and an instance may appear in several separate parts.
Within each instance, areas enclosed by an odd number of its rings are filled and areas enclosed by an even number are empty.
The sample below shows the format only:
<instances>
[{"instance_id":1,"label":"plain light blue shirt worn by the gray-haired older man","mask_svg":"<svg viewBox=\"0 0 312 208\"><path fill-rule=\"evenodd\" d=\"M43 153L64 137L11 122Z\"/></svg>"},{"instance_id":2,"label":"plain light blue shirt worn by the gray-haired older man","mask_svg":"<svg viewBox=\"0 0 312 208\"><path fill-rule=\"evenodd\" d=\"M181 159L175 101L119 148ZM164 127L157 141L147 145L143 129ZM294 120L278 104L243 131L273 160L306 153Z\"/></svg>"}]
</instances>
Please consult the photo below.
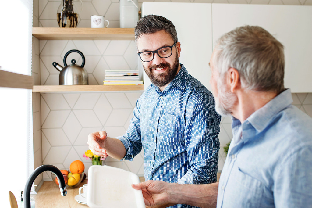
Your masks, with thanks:
<instances>
[{"instance_id":1,"label":"plain light blue shirt worn by the gray-haired older man","mask_svg":"<svg viewBox=\"0 0 312 208\"><path fill-rule=\"evenodd\" d=\"M312 118L291 103L287 89L242 124L232 117L218 208L312 206Z\"/></svg>"}]
</instances>

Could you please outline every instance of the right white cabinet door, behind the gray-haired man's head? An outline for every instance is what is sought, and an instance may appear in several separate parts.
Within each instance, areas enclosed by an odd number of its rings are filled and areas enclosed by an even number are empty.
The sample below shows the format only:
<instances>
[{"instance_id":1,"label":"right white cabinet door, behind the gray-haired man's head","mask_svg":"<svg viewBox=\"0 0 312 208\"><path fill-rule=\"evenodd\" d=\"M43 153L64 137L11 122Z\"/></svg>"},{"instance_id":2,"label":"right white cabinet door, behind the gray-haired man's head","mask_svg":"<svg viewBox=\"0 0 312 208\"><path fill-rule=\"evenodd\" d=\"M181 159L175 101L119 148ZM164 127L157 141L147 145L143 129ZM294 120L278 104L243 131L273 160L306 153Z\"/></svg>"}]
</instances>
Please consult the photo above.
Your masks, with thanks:
<instances>
[{"instance_id":1,"label":"right white cabinet door, behind the gray-haired man's head","mask_svg":"<svg viewBox=\"0 0 312 208\"><path fill-rule=\"evenodd\" d=\"M213 46L243 25L263 27L285 49L285 87L312 92L312 6L212 4Z\"/></svg>"}]
</instances>

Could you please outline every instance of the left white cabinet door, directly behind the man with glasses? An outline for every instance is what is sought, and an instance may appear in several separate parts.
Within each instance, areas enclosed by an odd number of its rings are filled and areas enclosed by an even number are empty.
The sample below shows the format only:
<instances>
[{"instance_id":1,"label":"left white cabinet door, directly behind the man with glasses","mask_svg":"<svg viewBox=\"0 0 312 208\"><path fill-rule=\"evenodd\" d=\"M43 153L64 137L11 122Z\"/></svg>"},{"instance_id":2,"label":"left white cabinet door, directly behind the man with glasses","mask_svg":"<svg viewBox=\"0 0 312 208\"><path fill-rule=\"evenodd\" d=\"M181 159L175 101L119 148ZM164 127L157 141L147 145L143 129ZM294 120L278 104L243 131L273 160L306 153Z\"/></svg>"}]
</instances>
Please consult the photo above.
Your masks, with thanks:
<instances>
[{"instance_id":1,"label":"left white cabinet door, directly behind the man with glasses","mask_svg":"<svg viewBox=\"0 0 312 208\"><path fill-rule=\"evenodd\" d=\"M148 14L160 15L173 22L178 41L181 42L180 63L189 74L211 90L208 66L212 54L211 4L143 2L142 17ZM144 72L144 87L150 83Z\"/></svg>"}]
</instances>

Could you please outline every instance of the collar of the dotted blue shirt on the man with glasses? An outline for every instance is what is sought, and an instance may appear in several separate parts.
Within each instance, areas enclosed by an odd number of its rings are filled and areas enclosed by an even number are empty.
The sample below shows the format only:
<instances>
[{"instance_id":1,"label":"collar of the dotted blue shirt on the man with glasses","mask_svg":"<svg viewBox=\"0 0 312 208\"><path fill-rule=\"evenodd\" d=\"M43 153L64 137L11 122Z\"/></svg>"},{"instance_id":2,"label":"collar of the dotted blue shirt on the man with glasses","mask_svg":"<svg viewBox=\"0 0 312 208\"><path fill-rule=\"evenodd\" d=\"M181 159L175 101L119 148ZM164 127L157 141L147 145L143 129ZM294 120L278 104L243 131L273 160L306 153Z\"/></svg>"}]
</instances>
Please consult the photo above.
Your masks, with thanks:
<instances>
[{"instance_id":1,"label":"collar of the dotted blue shirt on the man with glasses","mask_svg":"<svg viewBox=\"0 0 312 208\"><path fill-rule=\"evenodd\" d=\"M180 66L181 66L180 71L173 78L173 80L168 84L168 86L166 87L164 91L167 91L169 87L173 87L181 92L185 91L188 71L186 71L186 68L183 66L183 64L180 64ZM157 89L159 90L158 86L154 85L153 83L152 83L152 87L154 87L156 90Z\"/></svg>"}]
</instances>

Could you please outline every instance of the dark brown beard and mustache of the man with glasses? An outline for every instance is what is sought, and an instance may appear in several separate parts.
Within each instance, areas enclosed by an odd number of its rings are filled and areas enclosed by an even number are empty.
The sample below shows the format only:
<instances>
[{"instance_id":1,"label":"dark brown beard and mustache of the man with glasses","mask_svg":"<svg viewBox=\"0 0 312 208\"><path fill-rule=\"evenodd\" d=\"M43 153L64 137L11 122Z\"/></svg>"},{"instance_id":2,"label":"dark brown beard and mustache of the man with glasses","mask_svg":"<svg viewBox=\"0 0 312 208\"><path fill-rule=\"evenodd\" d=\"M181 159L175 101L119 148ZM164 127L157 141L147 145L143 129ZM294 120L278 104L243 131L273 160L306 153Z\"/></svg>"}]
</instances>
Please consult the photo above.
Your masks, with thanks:
<instances>
[{"instance_id":1,"label":"dark brown beard and mustache of the man with glasses","mask_svg":"<svg viewBox=\"0 0 312 208\"><path fill-rule=\"evenodd\" d=\"M156 74L153 72L153 69L164 67L168 67L168 69L163 73ZM163 87L169 84L174 79L174 77L178 72L178 68L179 68L179 58L177 56L172 67L170 67L169 63L160 63L159 65L149 66L149 69L146 69L144 67L144 71L147 74L147 76L149 76L149 79L154 85L158 87Z\"/></svg>"}]
</instances>

